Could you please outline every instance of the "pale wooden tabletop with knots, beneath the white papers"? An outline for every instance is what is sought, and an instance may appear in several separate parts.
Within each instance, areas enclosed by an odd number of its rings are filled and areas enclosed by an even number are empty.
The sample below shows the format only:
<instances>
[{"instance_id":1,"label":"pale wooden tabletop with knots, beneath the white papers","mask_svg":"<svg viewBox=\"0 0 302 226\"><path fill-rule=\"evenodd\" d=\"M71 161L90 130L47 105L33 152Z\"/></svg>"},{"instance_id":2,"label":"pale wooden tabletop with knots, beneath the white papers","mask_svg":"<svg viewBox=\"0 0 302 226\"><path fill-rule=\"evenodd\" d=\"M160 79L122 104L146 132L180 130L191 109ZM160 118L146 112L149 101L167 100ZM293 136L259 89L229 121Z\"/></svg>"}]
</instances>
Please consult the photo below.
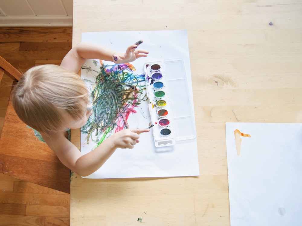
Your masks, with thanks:
<instances>
[{"instance_id":1,"label":"pale wooden tabletop with knots, beneath the white papers","mask_svg":"<svg viewBox=\"0 0 302 226\"><path fill-rule=\"evenodd\" d=\"M302 123L301 11L298 0L74 0L73 46L82 32L188 30L200 176L74 174L71 225L230 225L225 122Z\"/></svg>"}]
</instances>

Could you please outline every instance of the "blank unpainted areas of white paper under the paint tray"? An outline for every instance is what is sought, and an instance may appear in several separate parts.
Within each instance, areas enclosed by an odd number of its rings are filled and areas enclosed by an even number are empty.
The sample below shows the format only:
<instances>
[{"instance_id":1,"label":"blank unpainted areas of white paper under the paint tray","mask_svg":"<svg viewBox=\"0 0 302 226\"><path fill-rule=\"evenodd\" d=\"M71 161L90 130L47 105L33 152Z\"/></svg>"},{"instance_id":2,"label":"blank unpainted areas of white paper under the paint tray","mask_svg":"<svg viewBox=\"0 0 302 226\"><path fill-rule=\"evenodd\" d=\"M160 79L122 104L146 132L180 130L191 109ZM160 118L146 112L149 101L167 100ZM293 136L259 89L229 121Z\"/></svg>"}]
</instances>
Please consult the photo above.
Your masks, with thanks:
<instances>
[{"instance_id":1,"label":"blank unpainted areas of white paper under the paint tray","mask_svg":"<svg viewBox=\"0 0 302 226\"><path fill-rule=\"evenodd\" d=\"M182 59L185 66L191 103L193 103L191 70L186 30L174 31L121 31L121 32L92 32L83 33L82 42L92 42L108 46L117 52L125 52L127 46L143 40L140 49L149 50L146 58L139 58L131 62L137 74L143 74L145 62L164 61L167 59ZM104 62L113 64L112 62ZM86 65L94 68L92 60ZM99 65L98 65L99 66ZM97 68L97 67L96 67ZM82 78L90 77L85 70ZM147 102L135 108L137 113L130 114L128 124L130 128L146 128L150 119ZM192 112L194 112L192 104ZM194 117L194 115L193 115ZM81 152L88 153L95 146L94 142L85 142L85 134L81 134ZM106 163L87 178L133 178L133 177L179 177L199 175L198 152L196 138L177 141L167 148L156 148L149 133L140 134L140 142L133 149L117 149Z\"/></svg>"}]
</instances>

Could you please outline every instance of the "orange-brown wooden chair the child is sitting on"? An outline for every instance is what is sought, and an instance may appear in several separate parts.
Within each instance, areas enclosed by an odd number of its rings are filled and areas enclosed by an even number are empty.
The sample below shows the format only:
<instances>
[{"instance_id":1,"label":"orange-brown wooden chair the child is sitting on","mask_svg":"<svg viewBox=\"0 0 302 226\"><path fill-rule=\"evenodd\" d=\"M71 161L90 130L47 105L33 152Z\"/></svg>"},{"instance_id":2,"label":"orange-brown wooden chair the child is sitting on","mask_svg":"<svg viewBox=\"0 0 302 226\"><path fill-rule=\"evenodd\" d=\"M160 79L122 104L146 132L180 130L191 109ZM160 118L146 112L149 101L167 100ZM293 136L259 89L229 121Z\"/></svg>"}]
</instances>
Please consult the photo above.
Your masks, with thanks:
<instances>
[{"instance_id":1,"label":"orange-brown wooden chair the child is sitting on","mask_svg":"<svg viewBox=\"0 0 302 226\"><path fill-rule=\"evenodd\" d=\"M4 73L17 82L22 74L0 56L0 81ZM36 139L32 129L19 119L11 103L0 137L0 172L6 175L70 193L70 170L54 152Z\"/></svg>"}]
</instances>

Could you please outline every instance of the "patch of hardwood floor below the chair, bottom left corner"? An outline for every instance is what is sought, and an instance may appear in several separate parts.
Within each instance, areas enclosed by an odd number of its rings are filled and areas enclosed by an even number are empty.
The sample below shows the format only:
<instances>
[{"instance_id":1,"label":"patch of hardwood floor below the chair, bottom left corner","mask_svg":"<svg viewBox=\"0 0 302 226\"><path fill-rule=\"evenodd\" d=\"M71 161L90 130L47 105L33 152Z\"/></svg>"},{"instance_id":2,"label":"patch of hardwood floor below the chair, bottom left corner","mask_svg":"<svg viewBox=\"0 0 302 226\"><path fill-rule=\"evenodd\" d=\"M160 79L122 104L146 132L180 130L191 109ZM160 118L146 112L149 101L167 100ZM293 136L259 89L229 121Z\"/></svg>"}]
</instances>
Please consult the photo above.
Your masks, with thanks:
<instances>
[{"instance_id":1,"label":"patch of hardwood floor below the chair, bottom left corner","mask_svg":"<svg viewBox=\"0 0 302 226\"><path fill-rule=\"evenodd\" d=\"M69 225L69 194L0 173L0 225Z\"/></svg>"}]
</instances>

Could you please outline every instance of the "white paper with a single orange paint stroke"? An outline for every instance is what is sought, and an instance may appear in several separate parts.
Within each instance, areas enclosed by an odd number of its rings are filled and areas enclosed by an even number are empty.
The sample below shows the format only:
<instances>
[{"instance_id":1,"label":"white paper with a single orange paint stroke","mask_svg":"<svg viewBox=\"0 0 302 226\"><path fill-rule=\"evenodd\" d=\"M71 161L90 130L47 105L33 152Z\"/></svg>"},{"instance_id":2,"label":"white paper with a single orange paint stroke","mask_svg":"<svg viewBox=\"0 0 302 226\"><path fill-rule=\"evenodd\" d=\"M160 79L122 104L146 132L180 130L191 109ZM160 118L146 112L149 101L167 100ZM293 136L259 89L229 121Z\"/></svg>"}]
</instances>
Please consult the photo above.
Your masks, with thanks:
<instances>
[{"instance_id":1,"label":"white paper with a single orange paint stroke","mask_svg":"<svg viewBox=\"0 0 302 226\"><path fill-rule=\"evenodd\" d=\"M226 123L226 150L231 226L301 225L302 124Z\"/></svg>"}]
</instances>

